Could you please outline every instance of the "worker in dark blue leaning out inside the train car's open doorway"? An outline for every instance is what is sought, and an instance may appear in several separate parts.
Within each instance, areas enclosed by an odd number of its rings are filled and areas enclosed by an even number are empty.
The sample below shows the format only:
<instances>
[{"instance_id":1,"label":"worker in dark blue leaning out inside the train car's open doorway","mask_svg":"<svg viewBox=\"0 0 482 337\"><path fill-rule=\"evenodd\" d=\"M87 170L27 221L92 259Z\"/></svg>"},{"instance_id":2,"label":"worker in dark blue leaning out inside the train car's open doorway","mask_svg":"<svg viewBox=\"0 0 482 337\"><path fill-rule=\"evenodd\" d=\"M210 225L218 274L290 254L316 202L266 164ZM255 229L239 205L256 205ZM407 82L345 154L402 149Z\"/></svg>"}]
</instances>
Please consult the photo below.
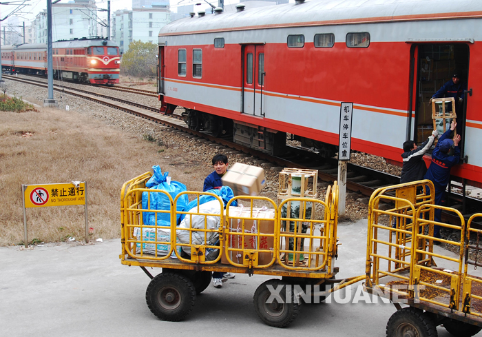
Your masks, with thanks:
<instances>
[{"instance_id":1,"label":"worker in dark blue leaning out inside the train car's open doorway","mask_svg":"<svg viewBox=\"0 0 482 337\"><path fill-rule=\"evenodd\" d=\"M442 85L442 87L432 96L432 99L439 99L441 97L453 97L455 99L457 134L462 134L463 99L465 98L465 90L467 90L467 83L462 80L461 71L455 70L452 79ZM432 99L430 99L429 104L432 104ZM452 111L452 105L448 108L448 111Z\"/></svg>"}]
</instances>

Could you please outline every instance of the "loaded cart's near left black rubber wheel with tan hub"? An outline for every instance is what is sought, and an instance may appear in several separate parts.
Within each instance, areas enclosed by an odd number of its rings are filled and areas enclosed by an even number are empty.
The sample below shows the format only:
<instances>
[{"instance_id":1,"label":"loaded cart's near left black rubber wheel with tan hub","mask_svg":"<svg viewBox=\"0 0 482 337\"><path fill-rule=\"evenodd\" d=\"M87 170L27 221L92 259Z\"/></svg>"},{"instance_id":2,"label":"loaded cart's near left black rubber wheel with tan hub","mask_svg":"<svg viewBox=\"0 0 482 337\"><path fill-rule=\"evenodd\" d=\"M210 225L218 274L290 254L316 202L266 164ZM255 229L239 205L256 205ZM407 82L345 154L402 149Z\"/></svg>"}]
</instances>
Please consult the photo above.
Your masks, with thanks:
<instances>
[{"instance_id":1,"label":"loaded cart's near left black rubber wheel with tan hub","mask_svg":"<svg viewBox=\"0 0 482 337\"><path fill-rule=\"evenodd\" d=\"M151 280L145 292L147 306L161 320L182 320L196 301L192 281L175 272L163 272Z\"/></svg>"}]
</instances>

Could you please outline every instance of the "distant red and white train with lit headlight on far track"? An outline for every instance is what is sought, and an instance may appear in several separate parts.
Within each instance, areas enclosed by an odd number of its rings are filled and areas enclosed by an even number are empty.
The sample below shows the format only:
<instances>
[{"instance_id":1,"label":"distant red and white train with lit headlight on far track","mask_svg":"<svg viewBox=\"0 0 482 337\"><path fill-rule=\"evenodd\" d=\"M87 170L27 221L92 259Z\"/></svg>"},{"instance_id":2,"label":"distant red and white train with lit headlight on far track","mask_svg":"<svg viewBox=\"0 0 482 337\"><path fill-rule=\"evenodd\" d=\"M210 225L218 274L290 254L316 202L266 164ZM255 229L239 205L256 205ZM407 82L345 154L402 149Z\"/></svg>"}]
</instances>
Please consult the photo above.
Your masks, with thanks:
<instances>
[{"instance_id":1,"label":"distant red and white train with lit headlight on far track","mask_svg":"<svg viewBox=\"0 0 482 337\"><path fill-rule=\"evenodd\" d=\"M116 43L106 39L74 39L52 43L54 79L80 83L119 83L121 56ZM2 45L2 70L46 76L47 44Z\"/></svg>"}]
</instances>

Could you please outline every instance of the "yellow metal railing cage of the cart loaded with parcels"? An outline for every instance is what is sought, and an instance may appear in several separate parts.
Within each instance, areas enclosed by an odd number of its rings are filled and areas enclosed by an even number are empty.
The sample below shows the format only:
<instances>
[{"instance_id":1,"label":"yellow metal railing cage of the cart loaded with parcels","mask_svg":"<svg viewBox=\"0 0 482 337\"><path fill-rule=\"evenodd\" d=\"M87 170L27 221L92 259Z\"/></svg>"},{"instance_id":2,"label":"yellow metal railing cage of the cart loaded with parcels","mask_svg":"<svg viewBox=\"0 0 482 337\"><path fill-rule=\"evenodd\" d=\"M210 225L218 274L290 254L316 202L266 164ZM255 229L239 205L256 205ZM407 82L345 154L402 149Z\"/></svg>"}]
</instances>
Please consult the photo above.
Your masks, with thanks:
<instances>
[{"instance_id":1,"label":"yellow metal railing cage of the cart loaded with parcels","mask_svg":"<svg viewBox=\"0 0 482 337\"><path fill-rule=\"evenodd\" d=\"M163 190L147 189L145 183L150 177L151 173L147 172L122 187L123 261L134 258L162 262L176 256L182 263L211 265L220 262L258 269L278 263L284 269L333 272L333 258L337 254L336 182L333 187L328 187L325 201L289 198L278 207L269 198L237 196L224 210L222 199L215 194L181 192L173 200ZM154 194L163 194L169 201L165 205L169 204L169 207L154 210L151 207ZM178 211L177 203L185 194L197 200L200 196L211 196L210 203L216 204L216 207L206 210L206 204L198 202L189 211ZM244 204L244 207L232 207L233 201ZM281 216L286 203L296 204L299 216ZM264 207L257 207L258 204ZM322 216L306 216L308 207L322 211ZM158 222L166 214L170 219L167 227ZM150 216L149 224L144 223L146 216ZM180 216L184 219L177 223ZM287 225L289 223L293 223L291 230ZM289 247L290 241L292 247Z\"/></svg>"}]
</instances>

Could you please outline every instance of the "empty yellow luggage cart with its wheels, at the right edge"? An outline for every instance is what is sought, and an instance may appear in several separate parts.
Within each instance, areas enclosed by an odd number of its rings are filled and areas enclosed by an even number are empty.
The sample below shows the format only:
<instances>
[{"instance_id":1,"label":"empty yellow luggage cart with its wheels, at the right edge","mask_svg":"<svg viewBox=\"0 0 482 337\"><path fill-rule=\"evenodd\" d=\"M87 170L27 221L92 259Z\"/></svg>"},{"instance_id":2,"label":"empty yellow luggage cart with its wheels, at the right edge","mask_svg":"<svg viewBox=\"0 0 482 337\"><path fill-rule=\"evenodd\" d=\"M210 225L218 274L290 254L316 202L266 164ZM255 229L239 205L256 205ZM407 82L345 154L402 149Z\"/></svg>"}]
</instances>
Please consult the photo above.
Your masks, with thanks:
<instances>
[{"instance_id":1,"label":"empty yellow luggage cart with its wheels, at the right edge","mask_svg":"<svg viewBox=\"0 0 482 337\"><path fill-rule=\"evenodd\" d=\"M381 210L381 201L395 208ZM435 210L450 212L459 222L435 222ZM365 289L397 307L387 323L388 337L437 336L437 325L454 336L473 336L482 329L482 278L469 274L469 265L482 266L477 261L481 231L471 227L481 216L474 214L465 223L459 211L434 205L430 181L382 187L373 193ZM435 238L434 225L451 229L451 240ZM434 252L440 243L447 250Z\"/></svg>"}]
</instances>

